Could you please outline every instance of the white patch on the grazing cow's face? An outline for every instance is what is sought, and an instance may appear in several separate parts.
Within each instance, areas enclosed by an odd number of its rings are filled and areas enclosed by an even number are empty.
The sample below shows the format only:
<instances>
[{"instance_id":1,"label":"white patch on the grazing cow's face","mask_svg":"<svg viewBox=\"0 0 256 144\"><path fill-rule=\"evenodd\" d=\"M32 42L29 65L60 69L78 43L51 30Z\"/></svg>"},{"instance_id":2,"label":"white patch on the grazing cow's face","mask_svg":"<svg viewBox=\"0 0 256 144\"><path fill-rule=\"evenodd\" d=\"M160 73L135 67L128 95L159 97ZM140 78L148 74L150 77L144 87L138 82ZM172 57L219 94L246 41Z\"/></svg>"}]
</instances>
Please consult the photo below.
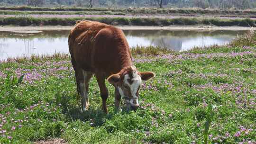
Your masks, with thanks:
<instances>
[{"instance_id":1,"label":"white patch on the grazing cow's face","mask_svg":"<svg viewBox=\"0 0 256 144\"><path fill-rule=\"evenodd\" d=\"M127 79L130 79L128 74L126 74L124 76L124 82L130 87L132 97L134 99L137 99L136 93L137 93L137 90L138 90L139 86L141 85L141 77L137 74L136 71L132 73L132 76L133 76L133 78L132 78L133 83L132 84L130 84L127 81Z\"/></svg>"}]
</instances>

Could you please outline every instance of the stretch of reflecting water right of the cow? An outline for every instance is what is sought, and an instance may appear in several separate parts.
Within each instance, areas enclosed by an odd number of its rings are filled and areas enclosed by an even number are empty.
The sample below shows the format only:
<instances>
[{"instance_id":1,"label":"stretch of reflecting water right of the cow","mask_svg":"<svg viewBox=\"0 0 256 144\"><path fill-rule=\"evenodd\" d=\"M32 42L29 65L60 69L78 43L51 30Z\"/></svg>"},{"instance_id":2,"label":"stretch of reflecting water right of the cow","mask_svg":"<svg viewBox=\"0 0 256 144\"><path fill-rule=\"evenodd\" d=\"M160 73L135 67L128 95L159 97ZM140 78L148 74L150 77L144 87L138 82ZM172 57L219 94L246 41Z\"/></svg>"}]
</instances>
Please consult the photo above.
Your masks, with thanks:
<instances>
[{"instance_id":1,"label":"stretch of reflecting water right of the cow","mask_svg":"<svg viewBox=\"0 0 256 144\"><path fill-rule=\"evenodd\" d=\"M247 31L129 30L124 31L129 45L158 45L174 51L195 46L225 45Z\"/></svg>"}]
</instances>

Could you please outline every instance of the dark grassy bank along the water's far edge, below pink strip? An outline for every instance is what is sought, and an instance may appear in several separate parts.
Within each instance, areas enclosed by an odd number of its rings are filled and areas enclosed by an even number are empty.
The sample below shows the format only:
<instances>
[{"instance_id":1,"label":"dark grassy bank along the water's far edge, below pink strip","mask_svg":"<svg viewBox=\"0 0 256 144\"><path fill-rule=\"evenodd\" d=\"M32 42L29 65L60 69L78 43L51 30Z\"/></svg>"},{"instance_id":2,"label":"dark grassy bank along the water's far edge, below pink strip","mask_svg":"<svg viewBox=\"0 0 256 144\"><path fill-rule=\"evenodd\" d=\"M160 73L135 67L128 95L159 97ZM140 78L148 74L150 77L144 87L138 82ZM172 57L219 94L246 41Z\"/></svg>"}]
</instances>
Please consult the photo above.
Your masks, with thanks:
<instances>
[{"instance_id":1,"label":"dark grassy bank along the water's far edge, below pink strip","mask_svg":"<svg viewBox=\"0 0 256 144\"><path fill-rule=\"evenodd\" d=\"M73 26L77 20L95 20L110 25L130 25L130 26L170 26L170 25L215 25L215 26L255 26L255 20L245 19L218 19L218 18L111 18L111 17L91 17L91 18L33 18L33 17L9 17L0 18L0 25L18 26L44 26L62 25Z\"/></svg>"}]
</instances>

